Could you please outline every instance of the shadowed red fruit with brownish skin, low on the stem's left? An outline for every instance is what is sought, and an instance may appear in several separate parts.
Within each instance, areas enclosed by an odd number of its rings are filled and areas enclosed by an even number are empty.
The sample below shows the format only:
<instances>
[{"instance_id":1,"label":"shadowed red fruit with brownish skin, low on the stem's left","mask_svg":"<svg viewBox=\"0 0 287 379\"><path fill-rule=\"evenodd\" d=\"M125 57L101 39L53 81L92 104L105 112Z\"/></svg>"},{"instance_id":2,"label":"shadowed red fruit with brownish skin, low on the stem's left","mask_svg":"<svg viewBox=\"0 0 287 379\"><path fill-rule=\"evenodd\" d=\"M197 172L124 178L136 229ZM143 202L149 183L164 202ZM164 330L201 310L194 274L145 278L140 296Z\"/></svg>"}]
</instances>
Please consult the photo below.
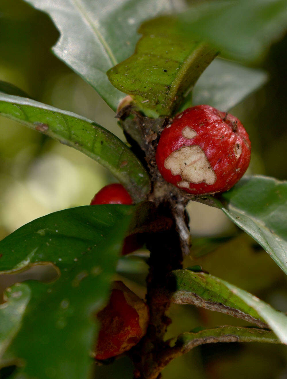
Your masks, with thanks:
<instances>
[{"instance_id":1,"label":"shadowed red fruit with brownish skin, low on the stem's left","mask_svg":"<svg viewBox=\"0 0 287 379\"><path fill-rule=\"evenodd\" d=\"M101 322L95 359L117 356L137 345L146 334L146 303L123 282L114 282L109 304L98 313Z\"/></svg>"}]
</instances>

